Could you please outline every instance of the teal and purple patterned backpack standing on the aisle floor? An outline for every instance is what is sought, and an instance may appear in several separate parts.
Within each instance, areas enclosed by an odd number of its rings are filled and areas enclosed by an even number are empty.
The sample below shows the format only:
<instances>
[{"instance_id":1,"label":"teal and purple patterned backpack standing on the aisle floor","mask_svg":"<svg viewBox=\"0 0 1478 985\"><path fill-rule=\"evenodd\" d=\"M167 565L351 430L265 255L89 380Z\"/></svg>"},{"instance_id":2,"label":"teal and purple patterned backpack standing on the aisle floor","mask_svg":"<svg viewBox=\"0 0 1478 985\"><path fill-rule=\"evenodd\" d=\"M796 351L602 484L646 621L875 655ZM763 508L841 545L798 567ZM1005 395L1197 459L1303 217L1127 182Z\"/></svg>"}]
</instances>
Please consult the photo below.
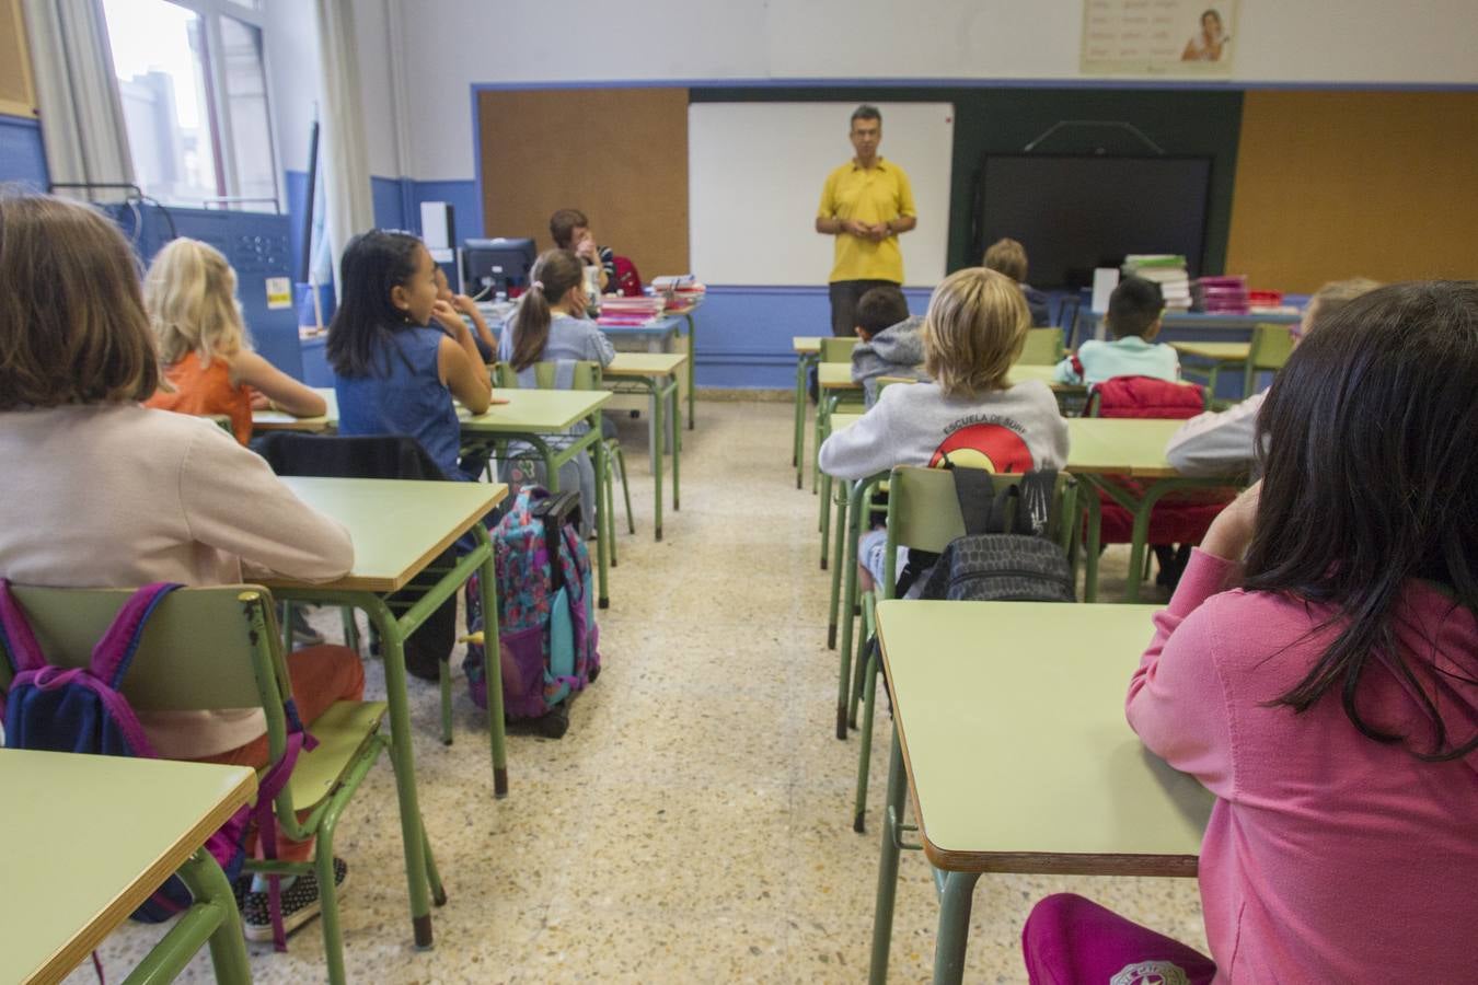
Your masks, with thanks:
<instances>
[{"instance_id":1,"label":"teal and purple patterned backpack standing on the aisle floor","mask_svg":"<svg viewBox=\"0 0 1478 985\"><path fill-rule=\"evenodd\" d=\"M569 699L600 675L590 552L578 529L578 493L523 486L492 535L504 713L538 719L548 738L565 734ZM469 579L463 670L473 701L488 707L479 589Z\"/></svg>"}]
</instances>

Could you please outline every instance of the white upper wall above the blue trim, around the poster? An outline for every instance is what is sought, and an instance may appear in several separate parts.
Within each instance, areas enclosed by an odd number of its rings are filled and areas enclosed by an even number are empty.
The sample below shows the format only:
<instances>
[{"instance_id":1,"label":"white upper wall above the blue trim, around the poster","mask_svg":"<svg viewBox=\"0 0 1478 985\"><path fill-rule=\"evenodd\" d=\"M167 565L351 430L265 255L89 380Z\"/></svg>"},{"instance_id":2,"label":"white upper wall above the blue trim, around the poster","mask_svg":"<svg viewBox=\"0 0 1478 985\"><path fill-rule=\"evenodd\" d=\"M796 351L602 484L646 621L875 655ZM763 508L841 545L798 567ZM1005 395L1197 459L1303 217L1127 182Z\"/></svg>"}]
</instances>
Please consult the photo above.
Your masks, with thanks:
<instances>
[{"instance_id":1,"label":"white upper wall above the blue trim, around the poster","mask_svg":"<svg viewBox=\"0 0 1478 985\"><path fill-rule=\"evenodd\" d=\"M371 170L395 176L386 0L359 19ZM1083 0L390 0L402 7L408 168L421 180L474 174L474 83L939 78L1080 80ZM1233 83L1478 84L1475 0L1240 0ZM273 24L312 37L310 4L268 0ZM559 10L559 19L551 10ZM290 28L291 30L291 28ZM302 37L299 38L302 40ZM279 44L273 40L273 49ZM294 50L299 46L294 43ZM273 74L307 72L297 58ZM302 102L291 80L273 86ZM316 90L316 81L312 86ZM304 124L299 127L306 134ZM284 142L287 167L303 149Z\"/></svg>"}]
</instances>

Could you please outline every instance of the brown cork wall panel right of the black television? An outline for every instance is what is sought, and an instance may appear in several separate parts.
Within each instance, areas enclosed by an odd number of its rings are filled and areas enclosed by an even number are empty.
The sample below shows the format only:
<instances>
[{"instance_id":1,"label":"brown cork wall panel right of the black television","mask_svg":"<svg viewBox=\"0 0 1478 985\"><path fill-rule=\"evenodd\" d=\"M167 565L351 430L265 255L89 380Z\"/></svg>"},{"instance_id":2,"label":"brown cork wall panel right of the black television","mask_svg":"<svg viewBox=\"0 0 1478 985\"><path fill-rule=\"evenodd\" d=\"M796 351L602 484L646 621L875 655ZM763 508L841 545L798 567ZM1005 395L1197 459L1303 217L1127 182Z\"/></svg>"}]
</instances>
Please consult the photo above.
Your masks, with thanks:
<instances>
[{"instance_id":1,"label":"brown cork wall panel right of the black television","mask_svg":"<svg viewBox=\"0 0 1478 985\"><path fill-rule=\"evenodd\" d=\"M1478 278L1478 93L1249 92L1227 273Z\"/></svg>"}]
</instances>

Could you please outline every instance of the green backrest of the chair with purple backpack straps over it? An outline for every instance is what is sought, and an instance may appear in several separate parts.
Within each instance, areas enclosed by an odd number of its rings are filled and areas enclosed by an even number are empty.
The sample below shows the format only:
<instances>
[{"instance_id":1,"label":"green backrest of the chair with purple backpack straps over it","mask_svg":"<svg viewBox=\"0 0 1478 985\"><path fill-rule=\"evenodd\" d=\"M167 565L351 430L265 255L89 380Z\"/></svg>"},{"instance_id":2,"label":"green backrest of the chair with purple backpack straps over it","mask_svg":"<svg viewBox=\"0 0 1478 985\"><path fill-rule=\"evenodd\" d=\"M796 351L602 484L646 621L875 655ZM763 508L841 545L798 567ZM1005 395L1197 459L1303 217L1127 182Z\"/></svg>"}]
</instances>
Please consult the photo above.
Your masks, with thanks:
<instances>
[{"instance_id":1,"label":"green backrest of the chair with purple backpack straps over it","mask_svg":"<svg viewBox=\"0 0 1478 985\"><path fill-rule=\"evenodd\" d=\"M46 660L86 667L132 589L12 585ZM251 585L185 588L160 601L120 688L136 712L262 707L279 734L290 694L272 597ZM0 690L15 662L0 642Z\"/></svg>"}]
</instances>

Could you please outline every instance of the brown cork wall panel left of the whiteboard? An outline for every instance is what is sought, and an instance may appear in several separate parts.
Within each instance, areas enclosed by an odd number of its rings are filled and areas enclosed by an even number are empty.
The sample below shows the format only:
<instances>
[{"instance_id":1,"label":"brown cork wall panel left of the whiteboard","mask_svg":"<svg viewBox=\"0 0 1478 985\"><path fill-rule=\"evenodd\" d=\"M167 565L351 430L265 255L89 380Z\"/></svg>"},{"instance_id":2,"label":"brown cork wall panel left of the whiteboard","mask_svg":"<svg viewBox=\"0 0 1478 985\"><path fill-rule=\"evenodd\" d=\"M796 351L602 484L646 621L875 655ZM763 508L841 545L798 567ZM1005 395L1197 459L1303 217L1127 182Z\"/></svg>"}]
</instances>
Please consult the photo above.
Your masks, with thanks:
<instances>
[{"instance_id":1,"label":"brown cork wall panel left of the whiteboard","mask_svg":"<svg viewBox=\"0 0 1478 985\"><path fill-rule=\"evenodd\" d=\"M572 207L644 281L687 273L686 89L494 90L477 114L489 236L544 251L550 214Z\"/></svg>"}]
</instances>

